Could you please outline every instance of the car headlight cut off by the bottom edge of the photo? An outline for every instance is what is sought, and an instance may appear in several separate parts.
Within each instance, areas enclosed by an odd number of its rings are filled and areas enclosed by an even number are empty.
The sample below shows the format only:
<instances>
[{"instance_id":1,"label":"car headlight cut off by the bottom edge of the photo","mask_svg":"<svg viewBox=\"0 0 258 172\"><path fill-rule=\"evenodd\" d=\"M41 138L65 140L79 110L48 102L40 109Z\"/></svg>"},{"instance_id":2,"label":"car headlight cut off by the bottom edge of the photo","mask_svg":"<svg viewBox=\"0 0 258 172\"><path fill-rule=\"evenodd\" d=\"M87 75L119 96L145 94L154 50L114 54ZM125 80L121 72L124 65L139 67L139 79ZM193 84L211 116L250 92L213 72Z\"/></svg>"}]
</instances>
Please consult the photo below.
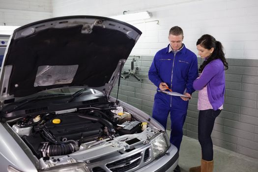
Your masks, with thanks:
<instances>
[{"instance_id":1,"label":"car headlight cut off by the bottom edge of the photo","mask_svg":"<svg viewBox=\"0 0 258 172\"><path fill-rule=\"evenodd\" d=\"M39 172L89 172L85 163L66 164Z\"/></svg>"}]
</instances>

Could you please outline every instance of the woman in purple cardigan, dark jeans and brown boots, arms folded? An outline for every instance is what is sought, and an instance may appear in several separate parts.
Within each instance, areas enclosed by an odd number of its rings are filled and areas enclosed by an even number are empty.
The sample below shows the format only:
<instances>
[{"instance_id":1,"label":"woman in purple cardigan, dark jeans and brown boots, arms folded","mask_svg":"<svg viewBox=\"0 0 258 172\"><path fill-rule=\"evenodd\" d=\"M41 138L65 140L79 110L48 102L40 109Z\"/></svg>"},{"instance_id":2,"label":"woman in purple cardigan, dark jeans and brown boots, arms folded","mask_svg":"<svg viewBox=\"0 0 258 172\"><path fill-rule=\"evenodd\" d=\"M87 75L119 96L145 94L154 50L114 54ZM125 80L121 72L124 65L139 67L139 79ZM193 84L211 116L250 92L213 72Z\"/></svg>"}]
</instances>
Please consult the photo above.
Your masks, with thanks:
<instances>
[{"instance_id":1,"label":"woman in purple cardigan, dark jeans and brown boots, arms folded","mask_svg":"<svg viewBox=\"0 0 258 172\"><path fill-rule=\"evenodd\" d=\"M213 172L213 144L211 132L215 118L223 109L225 94L225 70L228 63L219 41L208 34L198 39L198 55L204 58L199 68L200 77L194 81L199 90L198 98L198 140L201 144L201 166L192 167L190 172Z\"/></svg>"}]
</instances>

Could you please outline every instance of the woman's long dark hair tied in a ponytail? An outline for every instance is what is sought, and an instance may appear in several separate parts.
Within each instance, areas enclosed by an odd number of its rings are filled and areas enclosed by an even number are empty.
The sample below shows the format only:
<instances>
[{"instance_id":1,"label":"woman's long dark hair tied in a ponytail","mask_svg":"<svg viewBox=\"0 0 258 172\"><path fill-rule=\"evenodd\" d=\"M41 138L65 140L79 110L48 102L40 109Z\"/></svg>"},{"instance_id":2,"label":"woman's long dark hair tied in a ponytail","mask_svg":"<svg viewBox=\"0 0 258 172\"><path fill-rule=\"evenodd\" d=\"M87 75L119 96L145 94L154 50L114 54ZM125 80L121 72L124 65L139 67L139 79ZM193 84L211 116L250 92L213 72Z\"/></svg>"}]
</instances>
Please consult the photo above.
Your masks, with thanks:
<instances>
[{"instance_id":1,"label":"woman's long dark hair tied in a ponytail","mask_svg":"<svg viewBox=\"0 0 258 172\"><path fill-rule=\"evenodd\" d=\"M211 62L214 59L220 58L221 61L224 64L225 70L228 70L229 65L228 62L226 61L225 54L223 52L223 46L220 41L216 41L216 39L209 35L209 34L204 34L201 36L201 38L198 39L196 45L201 45L201 47L210 50L211 48L214 48L213 53L207 60L203 61L199 68L199 72L201 73L204 69L204 67Z\"/></svg>"}]
</instances>

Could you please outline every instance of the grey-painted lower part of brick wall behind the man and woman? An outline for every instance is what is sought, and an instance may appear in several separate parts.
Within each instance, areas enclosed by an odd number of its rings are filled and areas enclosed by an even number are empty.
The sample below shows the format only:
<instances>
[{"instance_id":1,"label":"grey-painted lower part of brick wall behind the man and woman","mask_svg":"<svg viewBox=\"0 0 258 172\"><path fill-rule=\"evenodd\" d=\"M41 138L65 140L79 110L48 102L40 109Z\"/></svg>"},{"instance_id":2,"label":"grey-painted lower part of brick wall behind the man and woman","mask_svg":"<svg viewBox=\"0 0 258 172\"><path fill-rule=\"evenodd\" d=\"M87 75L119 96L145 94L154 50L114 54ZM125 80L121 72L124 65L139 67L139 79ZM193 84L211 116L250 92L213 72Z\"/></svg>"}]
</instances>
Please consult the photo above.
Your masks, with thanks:
<instances>
[{"instance_id":1,"label":"grey-painted lower part of brick wall behind the man and woman","mask_svg":"<svg viewBox=\"0 0 258 172\"><path fill-rule=\"evenodd\" d=\"M132 58L136 60L135 68L139 67L137 74L143 79L143 83L133 76L121 79L118 99L152 115L156 86L148 80L147 71L153 56L129 57L123 71L131 69ZM198 60L200 66L202 61L200 58ZM229 58L228 62L224 110L215 121L213 143L258 159L258 60ZM117 86L111 95L116 97L116 93ZM189 102L188 115L183 127L184 135L195 139L198 139L197 101L198 91Z\"/></svg>"}]
</instances>

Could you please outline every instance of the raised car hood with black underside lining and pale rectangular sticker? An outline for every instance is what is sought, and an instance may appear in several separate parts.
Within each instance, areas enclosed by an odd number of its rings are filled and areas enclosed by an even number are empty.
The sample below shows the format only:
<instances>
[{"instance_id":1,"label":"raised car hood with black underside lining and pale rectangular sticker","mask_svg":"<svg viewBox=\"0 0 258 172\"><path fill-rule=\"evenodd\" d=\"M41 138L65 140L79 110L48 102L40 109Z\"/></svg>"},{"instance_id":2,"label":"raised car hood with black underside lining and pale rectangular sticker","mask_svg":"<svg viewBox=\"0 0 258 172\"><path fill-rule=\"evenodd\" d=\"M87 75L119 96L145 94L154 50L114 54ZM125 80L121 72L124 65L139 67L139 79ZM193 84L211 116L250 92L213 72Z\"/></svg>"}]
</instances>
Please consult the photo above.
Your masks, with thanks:
<instances>
[{"instance_id":1,"label":"raised car hood with black underside lining and pale rectangular sticker","mask_svg":"<svg viewBox=\"0 0 258 172\"><path fill-rule=\"evenodd\" d=\"M109 95L142 32L97 16L42 20L14 30L1 68L0 99L88 86Z\"/></svg>"}]
</instances>

